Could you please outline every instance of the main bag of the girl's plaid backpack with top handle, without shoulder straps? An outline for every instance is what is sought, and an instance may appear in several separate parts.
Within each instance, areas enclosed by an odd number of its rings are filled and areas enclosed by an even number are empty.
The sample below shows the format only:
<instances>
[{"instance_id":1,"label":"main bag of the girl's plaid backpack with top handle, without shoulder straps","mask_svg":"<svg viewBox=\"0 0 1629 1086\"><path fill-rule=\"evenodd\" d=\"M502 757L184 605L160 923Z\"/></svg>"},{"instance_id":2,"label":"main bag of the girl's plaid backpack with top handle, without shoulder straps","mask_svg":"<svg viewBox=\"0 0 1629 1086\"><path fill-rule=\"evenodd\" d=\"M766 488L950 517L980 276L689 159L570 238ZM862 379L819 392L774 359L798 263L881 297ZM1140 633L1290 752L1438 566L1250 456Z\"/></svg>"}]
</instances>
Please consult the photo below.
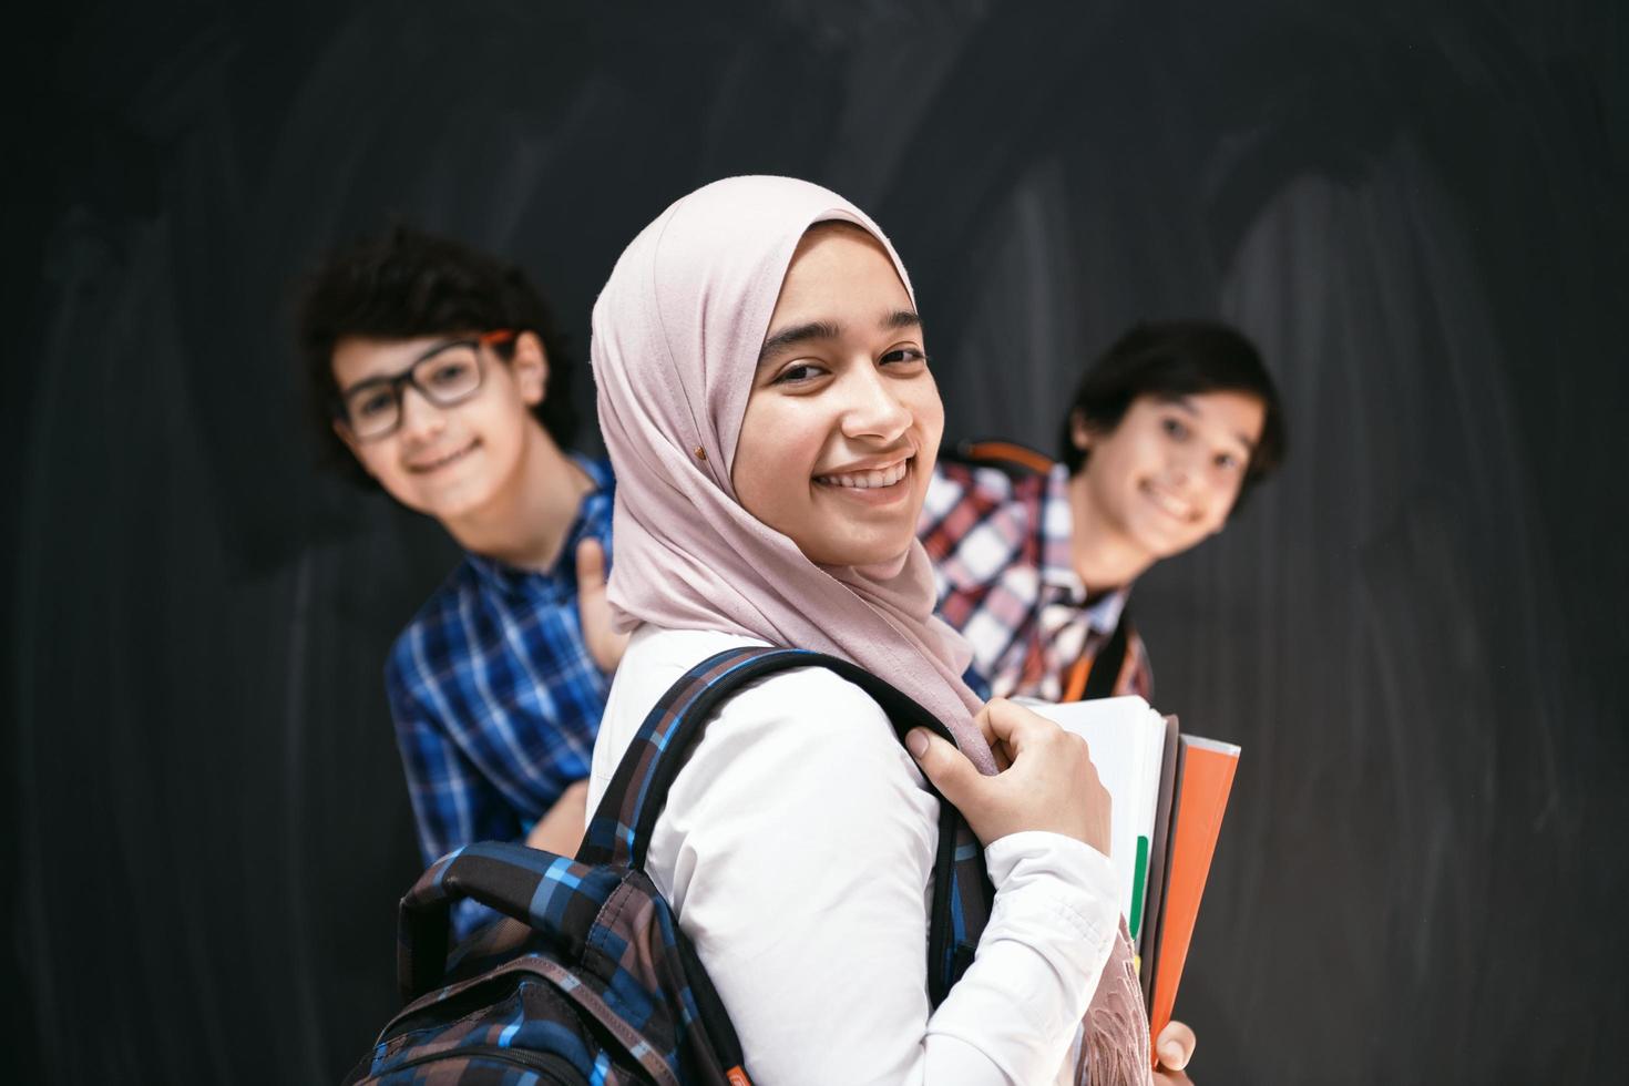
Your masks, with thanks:
<instances>
[{"instance_id":1,"label":"main bag of the girl's plaid backpack with top handle, without shoulder straps","mask_svg":"<svg viewBox=\"0 0 1629 1086\"><path fill-rule=\"evenodd\" d=\"M448 957L450 909L464 897L512 920ZM507 842L463 848L402 899L397 975L411 1001L347 1081L748 1086L681 938L642 871Z\"/></svg>"}]
</instances>

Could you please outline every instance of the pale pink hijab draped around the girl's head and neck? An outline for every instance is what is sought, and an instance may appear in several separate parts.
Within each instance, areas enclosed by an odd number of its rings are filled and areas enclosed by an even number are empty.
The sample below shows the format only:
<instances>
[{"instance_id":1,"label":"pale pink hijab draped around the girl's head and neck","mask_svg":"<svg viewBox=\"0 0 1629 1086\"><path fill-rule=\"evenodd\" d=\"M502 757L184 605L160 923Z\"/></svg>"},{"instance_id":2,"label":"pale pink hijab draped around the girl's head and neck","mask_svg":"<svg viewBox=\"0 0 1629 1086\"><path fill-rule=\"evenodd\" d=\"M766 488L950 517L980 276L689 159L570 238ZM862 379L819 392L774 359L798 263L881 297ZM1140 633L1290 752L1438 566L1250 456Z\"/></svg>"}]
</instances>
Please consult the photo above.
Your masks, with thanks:
<instances>
[{"instance_id":1,"label":"pale pink hijab draped around the girl's head and neck","mask_svg":"<svg viewBox=\"0 0 1629 1086\"><path fill-rule=\"evenodd\" d=\"M992 773L971 718L979 698L961 681L969 651L933 617L922 544L898 570L819 567L730 485L780 283L803 233L829 220L881 241L911 291L876 223L790 177L728 177L681 197L611 272L591 348L617 479L611 611L624 630L723 630L850 659L920 702Z\"/></svg>"}]
</instances>

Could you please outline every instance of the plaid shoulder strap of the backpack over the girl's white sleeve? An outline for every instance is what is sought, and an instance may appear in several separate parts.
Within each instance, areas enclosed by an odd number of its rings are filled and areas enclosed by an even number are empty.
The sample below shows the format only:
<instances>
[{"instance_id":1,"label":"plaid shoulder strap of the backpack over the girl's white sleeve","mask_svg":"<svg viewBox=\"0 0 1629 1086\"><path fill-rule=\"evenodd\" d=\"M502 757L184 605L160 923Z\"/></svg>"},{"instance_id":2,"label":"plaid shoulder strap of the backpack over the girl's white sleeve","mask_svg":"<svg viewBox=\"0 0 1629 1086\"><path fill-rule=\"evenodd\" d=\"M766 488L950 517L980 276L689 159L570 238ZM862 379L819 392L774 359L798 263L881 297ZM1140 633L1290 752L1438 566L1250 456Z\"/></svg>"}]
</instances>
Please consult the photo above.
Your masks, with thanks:
<instances>
[{"instance_id":1,"label":"plaid shoulder strap of the backpack over the girl's white sleeve","mask_svg":"<svg viewBox=\"0 0 1629 1086\"><path fill-rule=\"evenodd\" d=\"M858 685L888 713L901 742L919 726L955 742L950 729L915 700L845 659L801 648L727 650L684 672L652 707L588 822L577 861L642 869L668 791L707 721L748 682L792 668L828 668ZM956 808L943 796L938 799L929 928L929 993L935 1006L973 962L994 900L982 847Z\"/></svg>"}]
</instances>

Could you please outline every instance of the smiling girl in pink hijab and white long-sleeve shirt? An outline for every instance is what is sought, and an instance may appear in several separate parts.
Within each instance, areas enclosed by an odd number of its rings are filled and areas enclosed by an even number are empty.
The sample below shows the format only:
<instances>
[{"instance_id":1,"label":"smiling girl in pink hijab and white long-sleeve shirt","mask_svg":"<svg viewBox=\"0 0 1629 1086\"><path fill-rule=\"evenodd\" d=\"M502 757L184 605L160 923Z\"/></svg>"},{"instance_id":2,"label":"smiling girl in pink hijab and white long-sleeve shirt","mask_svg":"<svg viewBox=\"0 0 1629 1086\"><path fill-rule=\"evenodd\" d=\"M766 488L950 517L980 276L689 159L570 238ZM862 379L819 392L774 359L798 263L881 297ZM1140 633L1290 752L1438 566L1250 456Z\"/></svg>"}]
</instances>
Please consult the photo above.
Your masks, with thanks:
<instances>
[{"instance_id":1,"label":"smiling girl in pink hijab and white long-sleeve shirt","mask_svg":"<svg viewBox=\"0 0 1629 1086\"><path fill-rule=\"evenodd\" d=\"M709 723L647 871L754 1081L1074 1083L1088 1065L1095 1083L1147 1081L1087 747L1023 708L982 707L959 679L964 643L932 614L915 523L943 409L883 233L808 182L705 186L617 261L591 353L617 475L608 591L632 638L588 808L656 698L741 645L847 658L959 746L917 729L907 754L870 697L818 668L762 679ZM997 891L937 1009L924 773L986 845ZM1179 1047L1176 1066L1191 1034Z\"/></svg>"}]
</instances>

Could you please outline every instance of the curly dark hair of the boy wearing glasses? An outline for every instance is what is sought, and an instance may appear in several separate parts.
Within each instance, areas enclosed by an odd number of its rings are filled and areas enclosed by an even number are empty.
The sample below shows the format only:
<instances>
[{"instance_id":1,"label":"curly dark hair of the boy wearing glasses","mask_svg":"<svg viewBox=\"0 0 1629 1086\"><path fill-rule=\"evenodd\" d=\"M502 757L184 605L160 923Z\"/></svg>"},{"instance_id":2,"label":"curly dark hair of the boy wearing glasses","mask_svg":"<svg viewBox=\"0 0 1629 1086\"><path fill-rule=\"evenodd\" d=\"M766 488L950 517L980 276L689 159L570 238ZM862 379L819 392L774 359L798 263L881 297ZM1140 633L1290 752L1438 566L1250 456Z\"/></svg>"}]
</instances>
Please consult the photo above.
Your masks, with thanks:
<instances>
[{"instance_id":1,"label":"curly dark hair of the boy wearing glasses","mask_svg":"<svg viewBox=\"0 0 1629 1086\"><path fill-rule=\"evenodd\" d=\"M494 329L533 332L549 358L549 394L531 414L557 444L577 435L570 357L542 295L518 265L451 238L397 225L331 252L301 283L296 327L323 459L362 485L378 484L334 433L340 410L334 345L347 335L402 340ZM494 350L508 361L515 344Z\"/></svg>"}]
</instances>

